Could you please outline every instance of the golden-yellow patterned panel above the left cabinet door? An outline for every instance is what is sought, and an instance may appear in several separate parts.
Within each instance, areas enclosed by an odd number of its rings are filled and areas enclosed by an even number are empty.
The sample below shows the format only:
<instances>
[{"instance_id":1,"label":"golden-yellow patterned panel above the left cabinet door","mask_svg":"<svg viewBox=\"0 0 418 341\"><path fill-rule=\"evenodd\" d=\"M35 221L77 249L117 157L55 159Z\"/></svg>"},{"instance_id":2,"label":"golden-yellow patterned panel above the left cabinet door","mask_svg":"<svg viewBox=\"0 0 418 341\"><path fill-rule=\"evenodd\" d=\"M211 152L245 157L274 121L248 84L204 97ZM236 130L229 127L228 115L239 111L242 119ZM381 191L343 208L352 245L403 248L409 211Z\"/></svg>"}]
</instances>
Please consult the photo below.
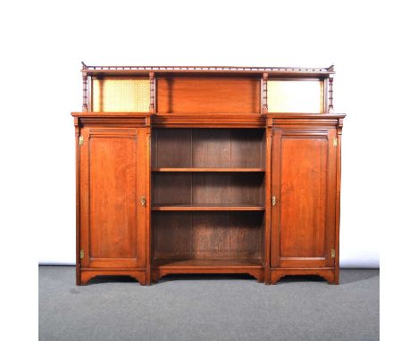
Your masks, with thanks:
<instances>
[{"instance_id":1,"label":"golden-yellow patterned panel above the left cabinet door","mask_svg":"<svg viewBox=\"0 0 418 341\"><path fill-rule=\"evenodd\" d=\"M93 79L93 112L149 112L149 79Z\"/></svg>"}]
</instances>

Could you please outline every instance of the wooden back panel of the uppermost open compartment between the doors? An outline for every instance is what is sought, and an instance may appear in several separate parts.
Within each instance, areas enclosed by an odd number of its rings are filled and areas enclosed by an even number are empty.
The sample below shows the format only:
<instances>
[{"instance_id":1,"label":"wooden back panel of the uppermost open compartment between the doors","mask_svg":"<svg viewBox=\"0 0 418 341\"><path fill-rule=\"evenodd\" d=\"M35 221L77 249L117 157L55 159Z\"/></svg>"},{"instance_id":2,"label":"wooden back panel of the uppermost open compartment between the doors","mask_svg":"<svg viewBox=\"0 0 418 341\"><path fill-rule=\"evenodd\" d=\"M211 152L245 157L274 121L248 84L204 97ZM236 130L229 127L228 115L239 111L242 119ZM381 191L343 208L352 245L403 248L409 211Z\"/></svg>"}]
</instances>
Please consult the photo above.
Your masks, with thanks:
<instances>
[{"instance_id":1,"label":"wooden back panel of the uppermost open compartment between the doors","mask_svg":"<svg viewBox=\"0 0 418 341\"><path fill-rule=\"evenodd\" d=\"M153 168L264 168L264 129L153 129Z\"/></svg>"}]
</instances>

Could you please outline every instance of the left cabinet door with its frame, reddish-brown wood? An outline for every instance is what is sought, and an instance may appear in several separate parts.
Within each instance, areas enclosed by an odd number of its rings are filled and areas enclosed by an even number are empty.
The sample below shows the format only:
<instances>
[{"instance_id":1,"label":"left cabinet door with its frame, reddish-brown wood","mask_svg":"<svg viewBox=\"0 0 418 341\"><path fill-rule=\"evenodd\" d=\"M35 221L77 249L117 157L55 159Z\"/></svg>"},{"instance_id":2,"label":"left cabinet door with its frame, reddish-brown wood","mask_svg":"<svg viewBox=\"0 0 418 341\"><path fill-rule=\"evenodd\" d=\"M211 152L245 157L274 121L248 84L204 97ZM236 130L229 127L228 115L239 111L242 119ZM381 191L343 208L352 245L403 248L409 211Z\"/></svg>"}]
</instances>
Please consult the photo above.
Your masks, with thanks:
<instances>
[{"instance_id":1,"label":"left cabinet door with its frame, reddish-brown wood","mask_svg":"<svg viewBox=\"0 0 418 341\"><path fill-rule=\"evenodd\" d=\"M81 267L145 267L146 129L84 128L81 135Z\"/></svg>"}]
</instances>

